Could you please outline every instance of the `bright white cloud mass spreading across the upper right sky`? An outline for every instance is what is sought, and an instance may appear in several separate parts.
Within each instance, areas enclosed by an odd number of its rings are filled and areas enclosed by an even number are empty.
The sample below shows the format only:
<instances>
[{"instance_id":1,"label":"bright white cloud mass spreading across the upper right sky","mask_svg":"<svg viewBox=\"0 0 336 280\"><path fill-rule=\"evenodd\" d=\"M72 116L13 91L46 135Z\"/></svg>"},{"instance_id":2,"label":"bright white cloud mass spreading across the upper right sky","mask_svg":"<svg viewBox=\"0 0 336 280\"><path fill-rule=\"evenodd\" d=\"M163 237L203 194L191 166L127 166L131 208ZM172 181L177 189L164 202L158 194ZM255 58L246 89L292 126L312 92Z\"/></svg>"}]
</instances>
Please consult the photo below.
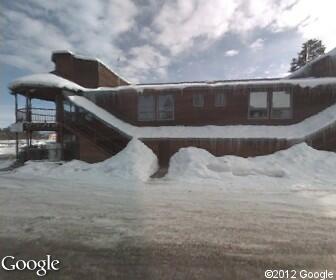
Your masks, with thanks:
<instances>
[{"instance_id":1,"label":"bright white cloud mass spreading across the upper right sky","mask_svg":"<svg viewBox=\"0 0 336 280\"><path fill-rule=\"evenodd\" d=\"M173 56L202 49L229 34L242 40L254 30L297 30L303 38L322 38L336 44L334 0L173 0L166 1L153 21L151 38ZM256 42L260 49L261 41Z\"/></svg>"}]
</instances>

